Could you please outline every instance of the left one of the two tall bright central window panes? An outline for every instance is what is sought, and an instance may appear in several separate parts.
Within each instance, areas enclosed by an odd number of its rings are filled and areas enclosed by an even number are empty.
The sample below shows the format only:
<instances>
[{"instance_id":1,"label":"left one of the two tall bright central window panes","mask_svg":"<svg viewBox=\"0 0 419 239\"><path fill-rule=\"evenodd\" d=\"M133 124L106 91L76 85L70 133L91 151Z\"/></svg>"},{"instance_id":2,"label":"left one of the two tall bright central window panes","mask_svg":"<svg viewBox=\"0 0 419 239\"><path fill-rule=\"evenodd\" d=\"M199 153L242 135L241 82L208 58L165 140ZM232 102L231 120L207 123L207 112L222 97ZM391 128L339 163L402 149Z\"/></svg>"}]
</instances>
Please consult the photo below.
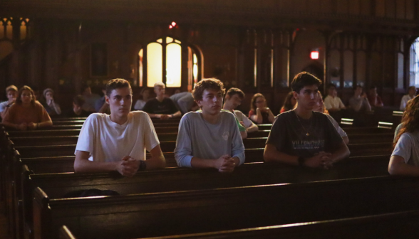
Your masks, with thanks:
<instances>
[{"instance_id":1,"label":"left one of the two tall bright central window panes","mask_svg":"<svg viewBox=\"0 0 419 239\"><path fill-rule=\"evenodd\" d=\"M153 87L155 83L162 82L163 50L159 43L150 43L147 46L147 86Z\"/></svg>"}]
</instances>

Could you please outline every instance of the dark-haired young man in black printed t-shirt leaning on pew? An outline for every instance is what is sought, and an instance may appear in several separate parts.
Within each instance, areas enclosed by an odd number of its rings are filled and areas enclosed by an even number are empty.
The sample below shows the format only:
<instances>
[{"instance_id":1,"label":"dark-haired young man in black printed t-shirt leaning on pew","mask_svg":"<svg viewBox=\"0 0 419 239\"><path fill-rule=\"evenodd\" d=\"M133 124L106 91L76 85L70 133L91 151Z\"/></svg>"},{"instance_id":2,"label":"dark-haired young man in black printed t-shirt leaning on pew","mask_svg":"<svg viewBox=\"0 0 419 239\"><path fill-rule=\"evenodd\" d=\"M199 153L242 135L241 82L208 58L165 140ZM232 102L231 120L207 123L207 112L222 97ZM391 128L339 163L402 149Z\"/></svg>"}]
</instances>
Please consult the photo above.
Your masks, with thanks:
<instances>
[{"instance_id":1,"label":"dark-haired young man in black printed t-shirt leaning on pew","mask_svg":"<svg viewBox=\"0 0 419 239\"><path fill-rule=\"evenodd\" d=\"M321 80L302 72L292 80L296 109L278 115L272 125L264 160L329 169L350 152L328 117L314 112Z\"/></svg>"}]
</instances>

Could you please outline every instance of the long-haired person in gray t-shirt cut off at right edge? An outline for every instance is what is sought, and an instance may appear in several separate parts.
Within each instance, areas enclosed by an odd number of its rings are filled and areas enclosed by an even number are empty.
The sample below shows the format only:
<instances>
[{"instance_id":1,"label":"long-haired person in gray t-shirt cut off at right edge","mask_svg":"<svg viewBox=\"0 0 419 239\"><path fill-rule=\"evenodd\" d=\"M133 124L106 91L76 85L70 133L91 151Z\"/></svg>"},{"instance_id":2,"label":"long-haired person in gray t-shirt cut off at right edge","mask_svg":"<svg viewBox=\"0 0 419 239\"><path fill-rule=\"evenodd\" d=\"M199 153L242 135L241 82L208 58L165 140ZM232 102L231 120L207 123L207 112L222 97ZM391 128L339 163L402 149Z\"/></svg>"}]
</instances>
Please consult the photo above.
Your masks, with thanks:
<instances>
[{"instance_id":1,"label":"long-haired person in gray t-shirt cut off at right edge","mask_svg":"<svg viewBox=\"0 0 419 239\"><path fill-rule=\"evenodd\" d=\"M391 175L419 176L419 97L408 102L388 164Z\"/></svg>"}]
</instances>

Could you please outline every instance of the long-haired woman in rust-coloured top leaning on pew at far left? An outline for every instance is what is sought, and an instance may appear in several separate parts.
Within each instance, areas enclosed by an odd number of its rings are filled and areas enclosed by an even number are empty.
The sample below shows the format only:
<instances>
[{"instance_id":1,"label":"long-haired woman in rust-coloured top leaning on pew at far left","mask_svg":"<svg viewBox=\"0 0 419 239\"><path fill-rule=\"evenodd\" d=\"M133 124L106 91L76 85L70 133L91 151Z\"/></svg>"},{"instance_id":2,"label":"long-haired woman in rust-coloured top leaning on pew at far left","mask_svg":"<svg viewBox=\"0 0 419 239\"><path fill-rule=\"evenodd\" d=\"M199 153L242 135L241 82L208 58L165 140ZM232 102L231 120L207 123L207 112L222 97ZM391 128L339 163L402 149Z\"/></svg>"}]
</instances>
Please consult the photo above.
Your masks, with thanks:
<instances>
[{"instance_id":1,"label":"long-haired woman in rust-coloured top leaning on pew at far left","mask_svg":"<svg viewBox=\"0 0 419 239\"><path fill-rule=\"evenodd\" d=\"M21 87L16 103L6 112L1 123L19 130L38 129L52 125L48 112L40 102L35 100L31 87L27 85Z\"/></svg>"}]
</instances>

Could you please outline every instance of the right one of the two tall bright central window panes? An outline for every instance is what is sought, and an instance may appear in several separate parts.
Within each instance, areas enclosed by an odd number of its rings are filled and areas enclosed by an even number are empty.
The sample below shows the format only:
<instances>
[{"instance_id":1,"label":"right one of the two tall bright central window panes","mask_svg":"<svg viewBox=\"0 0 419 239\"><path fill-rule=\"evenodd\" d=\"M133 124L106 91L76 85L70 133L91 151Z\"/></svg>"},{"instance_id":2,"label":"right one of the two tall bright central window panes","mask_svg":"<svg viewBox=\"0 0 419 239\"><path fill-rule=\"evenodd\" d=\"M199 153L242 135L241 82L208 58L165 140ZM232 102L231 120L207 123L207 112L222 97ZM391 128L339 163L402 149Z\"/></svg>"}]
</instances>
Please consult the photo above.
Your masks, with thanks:
<instances>
[{"instance_id":1,"label":"right one of the two tall bright central window panes","mask_svg":"<svg viewBox=\"0 0 419 239\"><path fill-rule=\"evenodd\" d=\"M166 47L166 86L180 87L182 70L182 48L176 43Z\"/></svg>"}]
</instances>

